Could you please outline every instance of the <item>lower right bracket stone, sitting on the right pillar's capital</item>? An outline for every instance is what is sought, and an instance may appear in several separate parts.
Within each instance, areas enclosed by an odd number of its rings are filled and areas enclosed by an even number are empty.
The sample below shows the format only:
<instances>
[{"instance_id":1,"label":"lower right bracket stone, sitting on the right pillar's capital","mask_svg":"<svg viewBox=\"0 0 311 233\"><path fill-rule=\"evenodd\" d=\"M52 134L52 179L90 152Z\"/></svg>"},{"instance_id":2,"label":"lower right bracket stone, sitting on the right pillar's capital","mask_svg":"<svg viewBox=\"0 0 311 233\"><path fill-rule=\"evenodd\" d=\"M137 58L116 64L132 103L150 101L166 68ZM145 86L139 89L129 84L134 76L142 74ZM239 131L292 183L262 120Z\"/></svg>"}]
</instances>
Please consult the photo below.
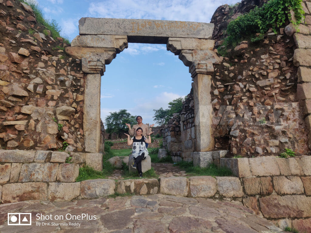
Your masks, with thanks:
<instances>
[{"instance_id":1,"label":"lower right bracket stone, sitting on the right pillar's capital","mask_svg":"<svg viewBox=\"0 0 311 233\"><path fill-rule=\"evenodd\" d=\"M220 58L212 50L181 50L179 57L185 66L191 66L194 61L210 61L220 64Z\"/></svg>"}]
</instances>

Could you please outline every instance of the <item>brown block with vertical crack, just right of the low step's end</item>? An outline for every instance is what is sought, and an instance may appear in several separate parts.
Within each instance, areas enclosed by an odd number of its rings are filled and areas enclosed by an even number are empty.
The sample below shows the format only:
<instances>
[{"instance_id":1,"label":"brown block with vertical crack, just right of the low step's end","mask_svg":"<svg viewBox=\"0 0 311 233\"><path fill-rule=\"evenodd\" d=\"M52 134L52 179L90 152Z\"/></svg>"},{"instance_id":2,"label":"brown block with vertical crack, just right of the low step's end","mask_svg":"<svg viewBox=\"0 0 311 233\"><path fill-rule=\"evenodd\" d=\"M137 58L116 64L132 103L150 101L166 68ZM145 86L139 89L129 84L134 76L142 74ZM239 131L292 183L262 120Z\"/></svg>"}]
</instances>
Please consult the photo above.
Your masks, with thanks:
<instances>
[{"instance_id":1,"label":"brown block with vertical crack, just right of the low step's end","mask_svg":"<svg viewBox=\"0 0 311 233\"><path fill-rule=\"evenodd\" d=\"M248 195L267 195L273 192L271 177L244 178L243 184Z\"/></svg>"}]
</instances>

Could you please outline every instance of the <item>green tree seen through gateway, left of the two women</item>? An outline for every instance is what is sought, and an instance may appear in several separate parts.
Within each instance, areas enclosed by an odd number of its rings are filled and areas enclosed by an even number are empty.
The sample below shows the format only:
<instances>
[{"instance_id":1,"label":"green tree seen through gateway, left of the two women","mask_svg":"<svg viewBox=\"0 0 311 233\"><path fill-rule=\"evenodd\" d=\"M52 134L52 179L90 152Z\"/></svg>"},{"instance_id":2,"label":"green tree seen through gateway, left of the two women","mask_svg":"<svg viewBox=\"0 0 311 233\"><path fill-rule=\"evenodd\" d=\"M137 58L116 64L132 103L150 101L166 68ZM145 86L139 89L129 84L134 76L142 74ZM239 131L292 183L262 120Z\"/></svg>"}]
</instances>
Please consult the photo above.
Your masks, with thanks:
<instances>
[{"instance_id":1,"label":"green tree seen through gateway, left of the two women","mask_svg":"<svg viewBox=\"0 0 311 233\"><path fill-rule=\"evenodd\" d=\"M128 130L125 124L137 124L136 117L132 116L128 110L121 109L119 112L109 112L110 115L105 118L105 126L107 133L122 133Z\"/></svg>"}]
</instances>

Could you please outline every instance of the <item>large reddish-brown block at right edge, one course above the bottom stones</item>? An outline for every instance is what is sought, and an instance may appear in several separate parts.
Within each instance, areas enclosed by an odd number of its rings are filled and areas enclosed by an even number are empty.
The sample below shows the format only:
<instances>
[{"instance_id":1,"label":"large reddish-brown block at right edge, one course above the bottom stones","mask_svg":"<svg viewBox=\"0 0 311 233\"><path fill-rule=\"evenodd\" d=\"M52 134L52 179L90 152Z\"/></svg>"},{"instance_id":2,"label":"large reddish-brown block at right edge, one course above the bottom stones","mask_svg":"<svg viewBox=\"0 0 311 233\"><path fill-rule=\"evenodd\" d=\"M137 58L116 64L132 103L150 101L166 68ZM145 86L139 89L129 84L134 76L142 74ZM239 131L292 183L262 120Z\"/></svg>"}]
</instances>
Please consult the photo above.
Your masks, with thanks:
<instances>
[{"instance_id":1,"label":"large reddish-brown block at right edge, one course above the bottom stones","mask_svg":"<svg viewBox=\"0 0 311 233\"><path fill-rule=\"evenodd\" d=\"M302 195L270 195L259 198L266 218L311 217L311 197Z\"/></svg>"}]
</instances>

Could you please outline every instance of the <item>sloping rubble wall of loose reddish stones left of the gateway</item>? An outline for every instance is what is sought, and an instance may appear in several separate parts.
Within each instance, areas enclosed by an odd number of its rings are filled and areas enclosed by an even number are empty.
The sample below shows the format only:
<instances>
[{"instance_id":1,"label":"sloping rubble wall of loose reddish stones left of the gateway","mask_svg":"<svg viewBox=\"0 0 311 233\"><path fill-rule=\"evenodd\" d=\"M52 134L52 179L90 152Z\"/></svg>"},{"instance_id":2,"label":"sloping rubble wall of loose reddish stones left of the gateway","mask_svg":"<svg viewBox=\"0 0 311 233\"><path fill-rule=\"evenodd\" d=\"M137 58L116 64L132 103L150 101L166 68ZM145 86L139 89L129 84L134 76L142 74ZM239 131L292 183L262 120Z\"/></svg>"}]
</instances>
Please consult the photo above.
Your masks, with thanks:
<instances>
[{"instance_id":1,"label":"sloping rubble wall of loose reddish stones left of the gateway","mask_svg":"<svg viewBox=\"0 0 311 233\"><path fill-rule=\"evenodd\" d=\"M31 7L0 3L0 144L6 149L84 151L85 76L37 23Z\"/></svg>"}]
</instances>

